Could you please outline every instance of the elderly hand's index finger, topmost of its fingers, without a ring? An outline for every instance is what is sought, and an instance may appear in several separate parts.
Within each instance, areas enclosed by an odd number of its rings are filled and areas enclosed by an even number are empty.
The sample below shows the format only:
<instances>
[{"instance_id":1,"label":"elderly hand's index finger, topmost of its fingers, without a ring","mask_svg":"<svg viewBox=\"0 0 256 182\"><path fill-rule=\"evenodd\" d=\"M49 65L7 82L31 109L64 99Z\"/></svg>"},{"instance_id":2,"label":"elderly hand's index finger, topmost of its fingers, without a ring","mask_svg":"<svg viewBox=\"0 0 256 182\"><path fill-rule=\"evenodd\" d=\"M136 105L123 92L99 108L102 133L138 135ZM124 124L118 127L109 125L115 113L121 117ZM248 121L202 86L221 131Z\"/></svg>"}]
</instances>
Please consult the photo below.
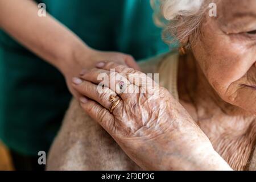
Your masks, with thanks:
<instances>
[{"instance_id":1,"label":"elderly hand's index finger, topmost of its fingers, without a ring","mask_svg":"<svg viewBox=\"0 0 256 182\"><path fill-rule=\"evenodd\" d=\"M107 71L111 71L113 69L113 71L118 72L123 76L126 75L127 80L129 80L131 84L142 86L144 89L146 89L145 87L147 86L157 85L156 82L152 80L152 75L147 76L145 73L127 67L127 65L115 62L100 62L96 66Z\"/></svg>"}]
</instances>

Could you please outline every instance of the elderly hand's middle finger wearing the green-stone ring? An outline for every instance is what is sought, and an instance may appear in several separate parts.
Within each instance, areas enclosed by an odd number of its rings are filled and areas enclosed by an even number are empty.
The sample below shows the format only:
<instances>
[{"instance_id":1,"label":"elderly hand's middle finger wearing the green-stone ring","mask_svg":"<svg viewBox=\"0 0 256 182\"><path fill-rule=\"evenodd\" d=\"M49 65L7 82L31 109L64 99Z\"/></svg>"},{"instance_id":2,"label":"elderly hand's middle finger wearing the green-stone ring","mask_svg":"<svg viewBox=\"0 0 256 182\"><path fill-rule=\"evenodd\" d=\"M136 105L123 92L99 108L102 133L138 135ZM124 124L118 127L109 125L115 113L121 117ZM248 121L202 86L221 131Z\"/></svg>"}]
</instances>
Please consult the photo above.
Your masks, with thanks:
<instances>
[{"instance_id":1,"label":"elderly hand's middle finger wearing the green-stone ring","mask_svg":"<svg viewBox=\"0 0 256 182\"><path fill-rule=\"evenodd\" d=\"M130 94L139 93L138 86L135 86L120 73L106 71L104 69L90 69L83 72L80 77L83 80L93 82L94 84L104 85L117 93L123 100L130 97Z\"/></svg>"}]
</instances>

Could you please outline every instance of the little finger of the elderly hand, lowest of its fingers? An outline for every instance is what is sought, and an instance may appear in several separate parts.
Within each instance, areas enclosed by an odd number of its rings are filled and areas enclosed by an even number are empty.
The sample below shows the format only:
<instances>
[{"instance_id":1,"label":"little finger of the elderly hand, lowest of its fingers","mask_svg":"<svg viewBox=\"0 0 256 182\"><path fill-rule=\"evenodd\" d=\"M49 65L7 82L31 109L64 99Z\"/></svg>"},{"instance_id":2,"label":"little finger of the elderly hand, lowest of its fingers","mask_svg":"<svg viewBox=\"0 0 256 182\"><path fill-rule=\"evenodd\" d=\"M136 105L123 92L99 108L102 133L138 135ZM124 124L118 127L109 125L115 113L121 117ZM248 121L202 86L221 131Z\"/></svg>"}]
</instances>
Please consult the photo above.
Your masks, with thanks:
<instances>
[{"instance_id":1,"label":"little finger of the elderly hand, lowest of its fingers","mask_svg":"<svg viewBox=\"0 0 256 182\"><path fill-rule=\"evenodd\" d=\"M85 97L80 98L82 109L95 121L97 121L106 131L110 132L114 126L114 116L108 109L102 107L93 100L88 100Z\"/></svg>"}]
</instances>

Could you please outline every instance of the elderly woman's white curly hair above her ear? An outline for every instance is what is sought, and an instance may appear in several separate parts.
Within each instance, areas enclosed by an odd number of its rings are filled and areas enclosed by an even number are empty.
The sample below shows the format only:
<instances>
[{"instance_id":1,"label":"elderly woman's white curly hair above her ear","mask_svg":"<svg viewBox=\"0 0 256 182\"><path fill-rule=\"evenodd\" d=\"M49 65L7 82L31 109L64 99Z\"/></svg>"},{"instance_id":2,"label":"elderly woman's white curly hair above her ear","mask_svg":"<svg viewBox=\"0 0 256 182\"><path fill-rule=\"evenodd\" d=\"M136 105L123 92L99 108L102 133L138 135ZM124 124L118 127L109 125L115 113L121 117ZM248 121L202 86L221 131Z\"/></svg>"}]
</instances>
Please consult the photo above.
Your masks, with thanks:
<instances>
[{"instance_id":1,"label":"elderly woman's white curly hair above her ear","mask_svg":"<svg viewBox=\"0 0 256 182\"><path fill-rule=\"evenodd\" d=\"M209 0L150 0L155 24L164 27L163 40L190 46L200 37L200 23ZM189 38L189 40L188 40Z\"/></svg>"}]
</instances>

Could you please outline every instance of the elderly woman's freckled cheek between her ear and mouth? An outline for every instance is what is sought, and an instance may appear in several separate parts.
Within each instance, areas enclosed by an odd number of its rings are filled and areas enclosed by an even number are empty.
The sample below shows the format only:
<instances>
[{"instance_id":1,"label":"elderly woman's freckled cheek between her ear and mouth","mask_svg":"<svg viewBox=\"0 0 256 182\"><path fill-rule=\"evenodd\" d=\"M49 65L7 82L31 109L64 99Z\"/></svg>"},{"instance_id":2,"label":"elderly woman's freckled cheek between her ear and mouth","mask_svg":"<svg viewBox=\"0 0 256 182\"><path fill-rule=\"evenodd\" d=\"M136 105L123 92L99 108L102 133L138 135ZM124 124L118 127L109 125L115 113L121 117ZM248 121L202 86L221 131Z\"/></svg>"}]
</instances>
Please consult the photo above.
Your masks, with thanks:
<instances>
[{"instance_id":1,"label":"elderly woman's freckled cheek between her ear and mouth","mask_svg":"<svg viewBox=\"0 0 256 182\"><path fill-rule=\"evenodd\" d=\"M246 74L253 55L245 43L222 32L205 32L204 37L192 51L209 83L223 96L232 82Z\"/></svg>"}]
</instances>

